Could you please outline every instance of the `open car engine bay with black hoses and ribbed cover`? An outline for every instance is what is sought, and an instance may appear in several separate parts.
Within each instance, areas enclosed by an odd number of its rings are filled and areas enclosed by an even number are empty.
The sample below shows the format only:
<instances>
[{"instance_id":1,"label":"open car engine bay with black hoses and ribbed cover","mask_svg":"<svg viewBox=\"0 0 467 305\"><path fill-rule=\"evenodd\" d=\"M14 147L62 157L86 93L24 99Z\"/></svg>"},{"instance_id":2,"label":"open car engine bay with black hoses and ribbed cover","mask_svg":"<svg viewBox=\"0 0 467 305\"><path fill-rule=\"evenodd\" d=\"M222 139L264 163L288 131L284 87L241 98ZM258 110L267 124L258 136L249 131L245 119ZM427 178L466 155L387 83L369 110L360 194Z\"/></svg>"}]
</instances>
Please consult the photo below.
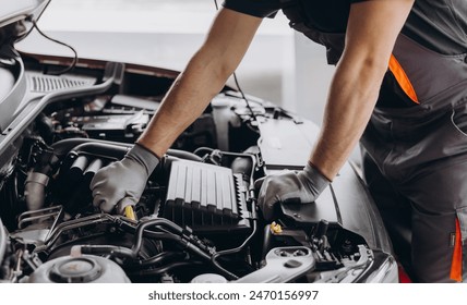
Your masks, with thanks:
<instances>
[{"instance_id":1,"label":"open car engine bay with black hoses and ribbed cover","mask_svg":"<svg viewBox=\"0 0 467 305\"><path fill-rule=\"evenodd\" d=\"M27 68L29 96L105 77L88 68L73 76L47 75L37 62ZM132 213L96 209L94 174L127 154L173 81L140 72L125 70L104 94L49 103L24 127L17 149L0 156L1 281L359 282L374 280L375 270L392 280L382 233L342 215L346 200L357 200L372 225L369 197L351 170L361 198L339 195L348 185L342 173L321 204L284 206L276 221L264 221L259 181L301 164L267 148L274 138L266 132L303 121L228 87L173 143Z\"/></svg>"}]
</instances>

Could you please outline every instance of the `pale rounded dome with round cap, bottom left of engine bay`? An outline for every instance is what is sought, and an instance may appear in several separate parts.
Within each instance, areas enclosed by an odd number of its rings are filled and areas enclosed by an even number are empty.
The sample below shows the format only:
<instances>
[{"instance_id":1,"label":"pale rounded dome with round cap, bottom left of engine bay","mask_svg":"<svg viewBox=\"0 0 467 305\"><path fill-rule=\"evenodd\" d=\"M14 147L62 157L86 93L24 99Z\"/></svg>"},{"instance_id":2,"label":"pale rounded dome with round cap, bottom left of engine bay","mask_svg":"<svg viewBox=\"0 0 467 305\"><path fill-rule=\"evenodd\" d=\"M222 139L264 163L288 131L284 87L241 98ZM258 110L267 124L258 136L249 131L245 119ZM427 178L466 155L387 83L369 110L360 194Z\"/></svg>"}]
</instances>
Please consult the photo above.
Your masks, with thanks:
<instances>
[{"instance_id":1,"label":"pale rounded dome with round cap, bottom left of engine bay","mask_svg":"<svg viewBox=\"0 0 467 305\"><path fill-rule=\"evenodd\" d=\"M129 283L119 265L99 256L63 256L34 271L29 283Z\"/></svg>"}]
</instances>

